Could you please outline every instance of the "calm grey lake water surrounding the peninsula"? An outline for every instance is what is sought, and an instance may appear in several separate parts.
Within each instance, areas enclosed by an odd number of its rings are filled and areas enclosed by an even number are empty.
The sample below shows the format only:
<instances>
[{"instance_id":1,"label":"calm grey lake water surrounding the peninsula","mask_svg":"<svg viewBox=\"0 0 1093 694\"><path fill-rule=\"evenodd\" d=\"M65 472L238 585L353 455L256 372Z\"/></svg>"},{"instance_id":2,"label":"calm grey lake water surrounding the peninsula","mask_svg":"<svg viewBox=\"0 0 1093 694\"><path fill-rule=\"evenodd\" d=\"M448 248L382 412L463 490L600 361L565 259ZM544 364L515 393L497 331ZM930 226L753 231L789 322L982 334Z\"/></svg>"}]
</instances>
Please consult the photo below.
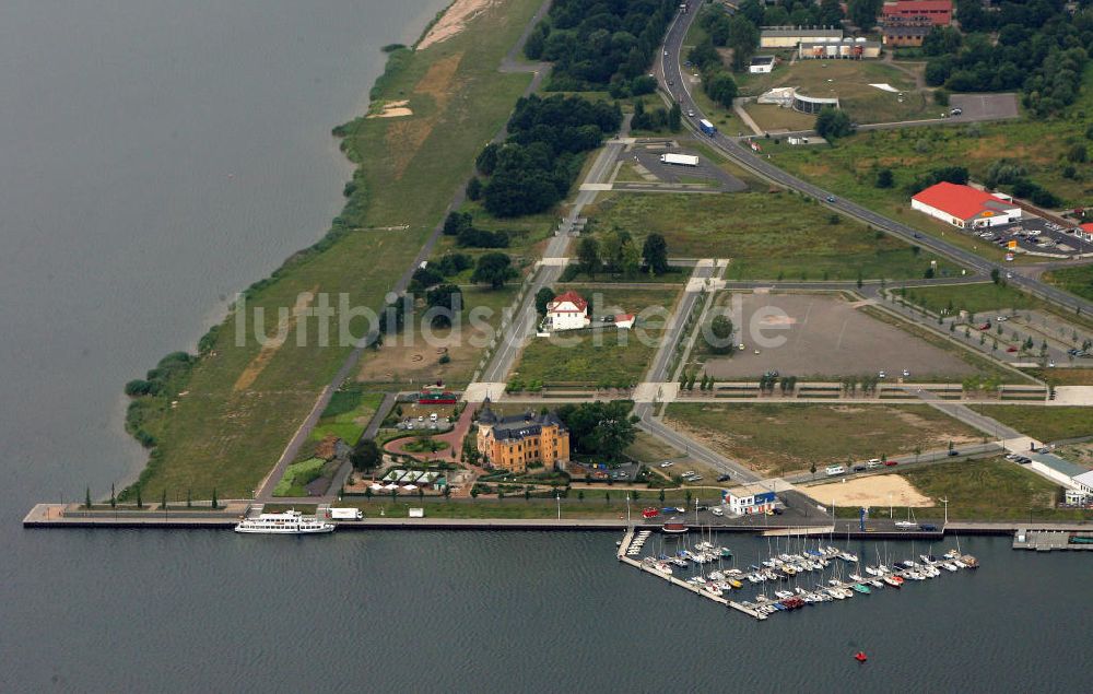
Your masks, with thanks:
<instances>
[{"instance_id":1,"label":"calm grey lake water surrounding the peninsula","mask_svg":"<svg viewBox=\"0 0 1093 694\"><path fill-rule=\"evenodd\" d=\"M330 128L444 3L0 10L0 691L1078 691L1089 557L1004 540L964 543L976 575L757 624L614 533L19 527L139 469L121 385L322 234Z\"/></svg>"}]
</instances>

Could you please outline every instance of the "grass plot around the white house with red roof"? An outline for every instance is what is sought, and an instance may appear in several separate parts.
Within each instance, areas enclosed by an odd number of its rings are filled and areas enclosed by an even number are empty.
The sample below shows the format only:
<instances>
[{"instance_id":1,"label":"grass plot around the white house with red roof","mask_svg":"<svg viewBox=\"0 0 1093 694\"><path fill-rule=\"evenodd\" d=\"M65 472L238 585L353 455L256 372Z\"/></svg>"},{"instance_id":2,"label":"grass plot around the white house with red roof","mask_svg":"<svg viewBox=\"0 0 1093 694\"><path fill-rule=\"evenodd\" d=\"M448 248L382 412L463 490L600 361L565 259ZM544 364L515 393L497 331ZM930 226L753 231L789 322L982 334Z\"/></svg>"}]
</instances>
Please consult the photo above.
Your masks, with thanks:
<instances>
[{"instance_id":1,"label":"grass plot around the white house with red roof","mask_svg":"<svg viewBox=\"0 0 1093 694\"><path fill-rule=\"evenodd\" d=\"M551 338L532 338L510 383L626 387L642 380L675 305L678 287L621 290L610 285L562 284L554 287L560 293L571 289L591 304L591 327ZM647 313L642 316L642 311ZM634 328L620 330L599 321L600 316L616 313L638 315Z\"/></svg>"}]
</instances>

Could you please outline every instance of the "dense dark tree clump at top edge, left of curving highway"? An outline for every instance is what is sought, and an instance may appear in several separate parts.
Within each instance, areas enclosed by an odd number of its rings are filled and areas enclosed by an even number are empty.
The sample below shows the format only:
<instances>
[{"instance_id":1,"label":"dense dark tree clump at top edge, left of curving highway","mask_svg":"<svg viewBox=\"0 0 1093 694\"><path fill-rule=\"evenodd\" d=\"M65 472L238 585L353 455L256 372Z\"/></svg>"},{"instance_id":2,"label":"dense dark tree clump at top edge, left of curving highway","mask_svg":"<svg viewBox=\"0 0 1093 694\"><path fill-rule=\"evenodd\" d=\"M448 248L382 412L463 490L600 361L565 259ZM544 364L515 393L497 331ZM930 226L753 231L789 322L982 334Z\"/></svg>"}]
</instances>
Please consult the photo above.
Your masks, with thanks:
<instances>
[{"instance_id":1,"label":"dense dark tree clump at top edge, left of curving highway","mask_svg":"<svg viewBox=\"0 0 1093 694\"><path fill-rule=\"evenodd\" d=\"M554 0L524 54L554 63L548 91L611 85L625 96L645 75L679 0ZM644 92L648 93L648 92Z\"/></svg>"}]
</instances>

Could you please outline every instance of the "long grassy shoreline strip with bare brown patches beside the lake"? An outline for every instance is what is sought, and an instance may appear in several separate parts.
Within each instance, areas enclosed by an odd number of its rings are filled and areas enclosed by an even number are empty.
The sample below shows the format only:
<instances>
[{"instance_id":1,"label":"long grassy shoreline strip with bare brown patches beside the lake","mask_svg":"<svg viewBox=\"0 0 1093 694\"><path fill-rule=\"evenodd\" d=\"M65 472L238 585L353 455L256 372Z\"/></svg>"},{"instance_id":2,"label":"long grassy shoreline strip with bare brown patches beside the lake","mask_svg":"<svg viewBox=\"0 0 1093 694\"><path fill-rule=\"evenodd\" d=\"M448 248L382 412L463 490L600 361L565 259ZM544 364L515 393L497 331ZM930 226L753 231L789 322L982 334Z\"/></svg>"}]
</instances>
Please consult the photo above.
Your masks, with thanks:
<instances>
[{"instance_id":1,"label":"long grassy shoreline strip with bare brown patches beside the lake","mask_svg":"<svg viewBox=\"0 0 1093 694\"><path fill-rule=\"evenodd\" d=\"M506 0L442 44L390 55L373 103L409 99L413 115L359 118L337 129L357 165L346 205L322 242L248 291L248 332L254 307L265 308L262 327L274 334L278 308L296 305L301 292L329 293L337 345L340 293L351 306L381 306L526 89L530 75L501 74L497 66L538 7L538 0ZM175 496L186 489L197 497L213 487L222 496L250 493L351 350L320 346L316 322L296 321L279 349L263 351L254 338L236 346L230 316L185 383L137 401L141 428L155 446L140 480L145 496L163 489ZM367 332L364 324L351 322L356 337Z\"/></svg>"}]
</instances>

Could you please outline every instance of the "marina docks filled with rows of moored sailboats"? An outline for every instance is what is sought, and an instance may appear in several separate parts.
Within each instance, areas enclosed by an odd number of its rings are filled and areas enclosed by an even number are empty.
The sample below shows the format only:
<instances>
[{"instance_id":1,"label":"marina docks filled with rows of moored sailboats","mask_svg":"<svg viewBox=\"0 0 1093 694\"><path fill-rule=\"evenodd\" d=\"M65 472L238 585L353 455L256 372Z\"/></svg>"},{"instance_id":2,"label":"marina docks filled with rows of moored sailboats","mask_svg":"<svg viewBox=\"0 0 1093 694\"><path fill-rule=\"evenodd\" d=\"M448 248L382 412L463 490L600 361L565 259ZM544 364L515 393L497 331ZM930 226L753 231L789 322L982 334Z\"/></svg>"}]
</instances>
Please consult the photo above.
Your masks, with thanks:
<instances>
[{"instance_id":1,"label":"marina docks filled with rows of moored sailboats","mask_svg":"<svg viewBox=\"0 0 1093 694\"><path fill-rule=\"evenodd\" d=\"M712 530L706 538L689 546L682 533L653 530L626 530L618 543L620 562L651 574L697 596L763 621L777 612L789 612L806 605L834 602L869 596L886 588L901 589L908 583L931 580L943 573L955 574L978 568L979 562L962 554L959 546L941 556L918 554L915 558L890 560L877 551L874 564L866 565L860 557L841 550L816 536L778 538L779 546L769 544L767 557L737 568L732 550L713 542ZM646 544L658 544L654 554L645 554ZM668 553L667 544L674 544ZM780 551L779 551L780 550ZM725 566L726 562L730 565ZM863 575L862 575L863 574ZM685 577L681 577L685 576ZM757 590L743 599L745 590ZM741 599L729 596L738 595Z\"/></svg>"}]
</instances>

